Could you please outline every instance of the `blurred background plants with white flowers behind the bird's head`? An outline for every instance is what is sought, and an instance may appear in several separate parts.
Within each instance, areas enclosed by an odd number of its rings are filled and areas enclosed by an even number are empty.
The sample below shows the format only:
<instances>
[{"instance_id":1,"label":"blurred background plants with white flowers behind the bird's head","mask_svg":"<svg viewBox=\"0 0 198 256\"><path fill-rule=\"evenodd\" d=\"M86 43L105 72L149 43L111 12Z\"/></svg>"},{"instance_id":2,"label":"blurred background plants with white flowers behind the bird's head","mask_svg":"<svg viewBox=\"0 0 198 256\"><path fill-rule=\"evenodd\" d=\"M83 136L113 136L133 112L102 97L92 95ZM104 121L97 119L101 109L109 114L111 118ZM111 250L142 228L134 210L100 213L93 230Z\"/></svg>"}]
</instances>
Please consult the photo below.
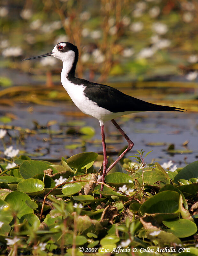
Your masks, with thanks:
<instances>
[{"instance_id":1,"label":"blurred background plants with white flowers behind the bird's head","mask_svg":"<svg viewBox=\"0 0 198 256\"><path fill-rule=\"evenodd\" d=\"M195 80L197 13L196 0L2 0L1 67L41 74L50 65L56 71L62 64L54 58L37 60L34 68L20 60L69 41L80 51L79 77Z\"/></svg>"}]
</instances>

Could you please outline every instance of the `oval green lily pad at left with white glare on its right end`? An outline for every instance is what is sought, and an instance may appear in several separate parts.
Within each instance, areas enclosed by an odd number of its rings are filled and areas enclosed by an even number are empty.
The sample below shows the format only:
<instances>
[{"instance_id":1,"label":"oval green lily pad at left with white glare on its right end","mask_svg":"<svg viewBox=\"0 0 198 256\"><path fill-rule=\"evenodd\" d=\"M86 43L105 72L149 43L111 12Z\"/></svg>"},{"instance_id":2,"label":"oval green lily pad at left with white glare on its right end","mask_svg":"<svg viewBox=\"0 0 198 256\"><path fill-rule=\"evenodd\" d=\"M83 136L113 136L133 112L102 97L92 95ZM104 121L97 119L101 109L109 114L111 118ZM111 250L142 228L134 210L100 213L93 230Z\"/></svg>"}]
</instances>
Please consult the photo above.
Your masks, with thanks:
<instances>
[{"instance_id":1,"label":"oval green lily pad at left with white glare on its right end","mask_svg":"<svg viewBox=\"0 0 198 256\"><path fill-rule=\"evenodd\" d=\"M19 182L17 190L27 194L37 195L40 194L40 192L43 192L44 186L45 185L41 180L29 178Z\"/></svg>"}]
</instances>

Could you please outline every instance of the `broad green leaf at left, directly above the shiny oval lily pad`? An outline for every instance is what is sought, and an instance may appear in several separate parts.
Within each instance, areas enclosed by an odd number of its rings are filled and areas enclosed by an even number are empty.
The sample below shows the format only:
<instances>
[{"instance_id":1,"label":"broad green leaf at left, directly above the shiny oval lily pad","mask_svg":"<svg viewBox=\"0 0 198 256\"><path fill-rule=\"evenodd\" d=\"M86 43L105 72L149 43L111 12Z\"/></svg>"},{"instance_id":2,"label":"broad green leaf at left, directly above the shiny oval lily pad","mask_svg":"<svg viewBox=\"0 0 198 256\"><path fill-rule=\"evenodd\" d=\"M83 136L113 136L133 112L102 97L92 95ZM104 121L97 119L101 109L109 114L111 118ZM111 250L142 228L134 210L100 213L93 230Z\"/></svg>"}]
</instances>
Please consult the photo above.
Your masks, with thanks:
<instances>
[{"instance_id":1,"label":"broad green leaf at left, directly above the shiny oval lily pad","mask_svg":"<svg viewBox=\"0 0 198 256\"><path fill-rule=\"evenodd\" d=\"M51 168L53 173L57 173L57 170L51 167L48 162L25 160L19 167L20 173L24 179L32 178L36 174L43 174L44 170Z\"/></svg>"}]
</instances>

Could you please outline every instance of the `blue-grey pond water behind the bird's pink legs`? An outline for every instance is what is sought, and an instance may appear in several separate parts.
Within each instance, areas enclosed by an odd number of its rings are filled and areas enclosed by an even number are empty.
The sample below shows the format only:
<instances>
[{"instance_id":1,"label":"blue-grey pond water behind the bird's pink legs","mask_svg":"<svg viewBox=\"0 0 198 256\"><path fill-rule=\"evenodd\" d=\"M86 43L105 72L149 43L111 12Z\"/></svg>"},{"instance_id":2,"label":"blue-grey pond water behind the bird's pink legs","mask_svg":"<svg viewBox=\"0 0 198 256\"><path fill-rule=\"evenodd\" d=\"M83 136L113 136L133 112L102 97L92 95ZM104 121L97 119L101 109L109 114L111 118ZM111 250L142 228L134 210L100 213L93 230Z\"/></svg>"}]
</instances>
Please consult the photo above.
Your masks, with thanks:
<instances>
[{"instance_id":1,"label":"blue-grey pond water behind the bird's pink legs","mask_svg":"<svg viewBox=\"0 0 198 256\"><path fill-rule=\"evenodd\" d=\"M33 111L30 110L33 108ZM46 126L50 120L57 120L57 123L50 126L49 129L36 130L35 134L23 135L19 142L20 132L14 129L9 130L9 134L15 139L12 139L11 144L18 143L17 148L24 150L24 154L33 154L33 159L45 160L60 160L62 156L71 156L82 151L94 151L102 153L102 143L100 135L100 126L98 120L88 116L82 116L81 112L71 102L57 103L56 107L39 106L30 104L16 104L15 107L1 107L3 115L6 113L14 114L16 119L13 119L9 125L20 126L22 128L37 128ZM73 132L66 134L69 121L82 121L76 123L73 127ZM197 150L197 114L183 112L142 112L123 116L116 119L121 125L126 134L132 139L134 147L127 156L136 152L136 149L143 149L145 152L153 150L147 156L147 162L172 160L181 162L184 165L196 161L198 156ZM82 137L78 130L81 126L91 126L95 129L95 135L92 137ZM71 129L70 129L71 130ZM112 157L127 145L126 141L108 121L105 123L105 134L107 151ZM8 136L5 139L7 146L9 145ZM187 147L182 146L185 141L189 141ZM22 143L21 143L22 142ZM165 150L168 145L174 144L175 150L184 151L183 154L169 154ZM67 146L67 149L65 148ZM3 151L3 146L1 145ZM189 153L187 150L191 150ZM185 151L187 153L185 153ZM180 151L179 151L180 152ZM37 155L37 156L36 156Z\"/></svg>"}]
</instances>

